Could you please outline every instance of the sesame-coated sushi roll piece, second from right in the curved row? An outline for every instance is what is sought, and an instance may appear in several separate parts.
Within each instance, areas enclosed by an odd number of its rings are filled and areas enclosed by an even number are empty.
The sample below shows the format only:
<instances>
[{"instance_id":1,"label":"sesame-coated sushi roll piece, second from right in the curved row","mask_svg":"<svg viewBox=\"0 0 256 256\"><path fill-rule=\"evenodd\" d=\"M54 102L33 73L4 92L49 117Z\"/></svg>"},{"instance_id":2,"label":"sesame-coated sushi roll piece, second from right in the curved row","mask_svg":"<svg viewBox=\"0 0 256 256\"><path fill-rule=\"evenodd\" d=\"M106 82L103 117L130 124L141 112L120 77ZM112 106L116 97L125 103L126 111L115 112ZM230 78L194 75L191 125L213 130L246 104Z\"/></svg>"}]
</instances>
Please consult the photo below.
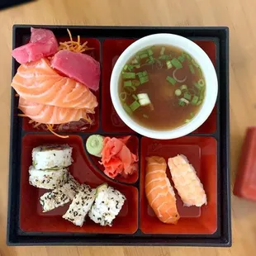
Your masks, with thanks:
<instances>
[{"instance_id":1,"label":"sesame-coated sushi roll piece, second from right in the curved row","mask_svg":"<svg viewBox=\"0 0 256 256\"><path fill-rule=\"evenodd\" d=\"M74 225L82 226L95 200L95 192L96 189L92 189L85 184L78 187L78 194L73 198L69 210L62 217L71 221Z\"/></svg>"}]
</instances>

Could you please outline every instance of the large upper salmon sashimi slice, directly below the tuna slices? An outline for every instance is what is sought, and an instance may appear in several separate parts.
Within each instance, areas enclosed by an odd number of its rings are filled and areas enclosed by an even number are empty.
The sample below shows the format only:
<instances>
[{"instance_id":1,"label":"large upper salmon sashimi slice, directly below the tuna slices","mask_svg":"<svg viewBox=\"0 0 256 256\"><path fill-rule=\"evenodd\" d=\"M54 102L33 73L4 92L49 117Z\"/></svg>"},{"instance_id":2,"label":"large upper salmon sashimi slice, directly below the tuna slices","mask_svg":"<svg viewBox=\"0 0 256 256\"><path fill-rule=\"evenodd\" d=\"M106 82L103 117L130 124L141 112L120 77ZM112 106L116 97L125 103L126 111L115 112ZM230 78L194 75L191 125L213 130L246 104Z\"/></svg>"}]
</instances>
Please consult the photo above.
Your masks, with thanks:
<instances>
[{"instance_id":1,"label":"large upper salmon sashimi slice, directly below the tuna slices","mask_svg":"<svg viewBox=\"0 0 256 256\"><path fill-rule=\"evenodd\" d=\"M50 67L48 59L21 64L12 87L24 99L56 107L94 109L97 98L82 83L66 78Z\"/></svg>"}]
</instances>

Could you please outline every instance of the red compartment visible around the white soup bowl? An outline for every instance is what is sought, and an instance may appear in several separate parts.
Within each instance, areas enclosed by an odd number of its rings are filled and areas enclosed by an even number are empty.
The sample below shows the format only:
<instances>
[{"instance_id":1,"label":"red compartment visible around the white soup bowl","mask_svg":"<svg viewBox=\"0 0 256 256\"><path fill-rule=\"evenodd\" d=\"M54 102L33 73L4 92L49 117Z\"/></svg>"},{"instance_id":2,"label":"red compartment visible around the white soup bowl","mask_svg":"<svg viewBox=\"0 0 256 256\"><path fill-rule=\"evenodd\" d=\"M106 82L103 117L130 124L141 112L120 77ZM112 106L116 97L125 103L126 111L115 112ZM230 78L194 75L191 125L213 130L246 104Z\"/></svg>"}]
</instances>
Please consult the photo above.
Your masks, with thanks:
<instances>
[{"instance_id":1,"label":"red compartment visible around the white soup bowl","mask_svg":"<svg viewBox=\"0 0 256 256\"><path fill-rule=\"evenodd\" d=\"M117 115L111 103L110 79L116 60L135 40L105 40L102 50L102 129L107 132L131 131ZM216 44L211 40L196 40L195 43L216 65ZM216 131L216 107L206 122L193 133L214 133Z\"/></svg>"}]
</instances>

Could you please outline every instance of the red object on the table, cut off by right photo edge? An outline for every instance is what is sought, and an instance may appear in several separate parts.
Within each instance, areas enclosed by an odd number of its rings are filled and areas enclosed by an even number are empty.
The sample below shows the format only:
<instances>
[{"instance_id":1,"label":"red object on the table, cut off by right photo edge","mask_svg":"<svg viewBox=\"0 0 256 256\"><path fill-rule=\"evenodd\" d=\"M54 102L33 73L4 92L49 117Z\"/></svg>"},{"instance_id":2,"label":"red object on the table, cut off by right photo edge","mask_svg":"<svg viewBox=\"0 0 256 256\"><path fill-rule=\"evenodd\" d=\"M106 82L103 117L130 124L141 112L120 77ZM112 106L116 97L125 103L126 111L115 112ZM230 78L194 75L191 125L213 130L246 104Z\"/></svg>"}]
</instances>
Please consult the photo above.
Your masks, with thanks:
<instances>
[{"instance_id":1,"label":"red object on the table, cut off by right photo edge","mask_svg":"<svg viewBox=\"0 0 256 256\"><path fill-rule=\"evenodd\" d=\"M246 131L233 192L235 196L256 201L256 126Z\"/></svg>"}]
</instances>

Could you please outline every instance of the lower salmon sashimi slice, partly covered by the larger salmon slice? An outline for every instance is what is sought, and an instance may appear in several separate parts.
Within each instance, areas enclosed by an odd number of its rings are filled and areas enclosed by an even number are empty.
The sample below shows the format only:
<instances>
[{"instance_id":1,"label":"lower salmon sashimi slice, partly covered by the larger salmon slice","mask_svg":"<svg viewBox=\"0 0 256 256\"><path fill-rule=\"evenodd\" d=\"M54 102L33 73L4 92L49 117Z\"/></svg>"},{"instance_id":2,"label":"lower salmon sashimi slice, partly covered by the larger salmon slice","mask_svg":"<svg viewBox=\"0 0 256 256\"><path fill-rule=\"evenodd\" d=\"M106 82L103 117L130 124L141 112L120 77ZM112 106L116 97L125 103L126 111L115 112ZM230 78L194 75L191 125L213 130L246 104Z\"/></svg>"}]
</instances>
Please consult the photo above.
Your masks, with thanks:
<instances>
[{"instance_id":1,"label":"lower salmon sashimi slice, partly covered by the larger salmon slice","mask_svg":"<svg viewBox=\"0 0 256 256\"><path fill-rule=\"evenodd\" d=\"M93 113L93 111L86 109L55 107L28 102L22 97L19 99L18 108L33 121L51 125L64 124L71 121L79 121L80 119L88 120L88 112Z\"/></svg>"}]
</instances>

